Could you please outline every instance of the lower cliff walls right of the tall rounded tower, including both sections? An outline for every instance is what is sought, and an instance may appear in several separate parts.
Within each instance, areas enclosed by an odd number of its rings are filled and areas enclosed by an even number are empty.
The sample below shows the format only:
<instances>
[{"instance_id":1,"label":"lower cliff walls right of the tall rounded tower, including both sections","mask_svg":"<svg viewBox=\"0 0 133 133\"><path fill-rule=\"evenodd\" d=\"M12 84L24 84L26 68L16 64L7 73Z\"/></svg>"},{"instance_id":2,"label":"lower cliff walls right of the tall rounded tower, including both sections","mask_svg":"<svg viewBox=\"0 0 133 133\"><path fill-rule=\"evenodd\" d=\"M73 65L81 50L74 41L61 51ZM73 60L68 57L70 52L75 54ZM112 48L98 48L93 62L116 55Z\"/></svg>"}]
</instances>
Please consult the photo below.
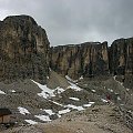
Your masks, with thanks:
<instances>
[{"instance_id":1,"label":"lower cliff walls right of the tall rounded tower, including both sections","mask_svg":"<svg viewBox=\"0 0 133 133\"><path fill-rule=\"evenodd\" d=\"M50 66L72 79L117 75L117 80L132 88L133 38L117 39L110 48L108 42L52 47Z\"/></svg>"}]
</instances>

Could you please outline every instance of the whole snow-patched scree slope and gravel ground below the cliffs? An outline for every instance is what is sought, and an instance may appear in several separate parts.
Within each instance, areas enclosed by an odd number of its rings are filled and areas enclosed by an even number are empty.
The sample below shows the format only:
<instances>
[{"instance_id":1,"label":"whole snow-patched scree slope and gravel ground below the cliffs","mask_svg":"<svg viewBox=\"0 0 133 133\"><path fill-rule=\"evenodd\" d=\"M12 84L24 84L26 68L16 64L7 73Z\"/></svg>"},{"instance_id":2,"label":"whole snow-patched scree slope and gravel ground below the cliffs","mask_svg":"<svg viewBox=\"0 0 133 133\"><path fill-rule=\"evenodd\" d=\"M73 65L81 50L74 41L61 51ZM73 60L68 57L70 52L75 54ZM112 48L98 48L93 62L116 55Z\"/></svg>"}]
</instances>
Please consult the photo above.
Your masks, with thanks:
<instances>
[{"instance_id":1,"label":"whole snow-patched scree slope and gravel ground below the cliffs","mask_svg":"<svg viewBox=\"0 0 133 133\"><path fill-rule=\"evenodd\" d=\"M109 105L106 94L111 95ZM48 86L32 80L0 82L0 106L9 108L13 127L1 133L132 133L133 91L116 76L73 81L51 71ZM124 110L119 113L120 108ZM126 112L125 112L126 110ZM133 115L132 115L133 116ZM127 122L130 124L127 124ZM30 125L29 125L30 124ZM34 124L34 125L32 125ZM130 125L130 129L126 125Z\"/></svg>"}]
</instances>

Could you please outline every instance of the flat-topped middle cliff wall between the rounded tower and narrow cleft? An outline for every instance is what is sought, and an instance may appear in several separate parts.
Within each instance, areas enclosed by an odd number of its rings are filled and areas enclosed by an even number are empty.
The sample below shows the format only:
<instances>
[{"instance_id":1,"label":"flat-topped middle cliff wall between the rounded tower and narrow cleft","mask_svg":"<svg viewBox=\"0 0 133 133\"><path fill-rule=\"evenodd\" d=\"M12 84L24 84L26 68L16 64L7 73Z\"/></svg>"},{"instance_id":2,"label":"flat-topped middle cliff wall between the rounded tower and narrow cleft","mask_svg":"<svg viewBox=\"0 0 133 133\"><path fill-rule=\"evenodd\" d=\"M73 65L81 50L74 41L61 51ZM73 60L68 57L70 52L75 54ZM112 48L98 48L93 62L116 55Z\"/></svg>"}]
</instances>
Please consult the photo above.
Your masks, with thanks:
<instances>
[{"instance_id":1,"label":"flat-topped middle cliff wall between the rounded tower and narrow cleft","mask_svg":"<svg viewBox=\"0 0 133 133\"><path fill-rule=\"evenodd\" d=\"M52 47L50 66L72 79L109 74L108 43L86 42L76 45Z\"/></svg>"}]
</instances>

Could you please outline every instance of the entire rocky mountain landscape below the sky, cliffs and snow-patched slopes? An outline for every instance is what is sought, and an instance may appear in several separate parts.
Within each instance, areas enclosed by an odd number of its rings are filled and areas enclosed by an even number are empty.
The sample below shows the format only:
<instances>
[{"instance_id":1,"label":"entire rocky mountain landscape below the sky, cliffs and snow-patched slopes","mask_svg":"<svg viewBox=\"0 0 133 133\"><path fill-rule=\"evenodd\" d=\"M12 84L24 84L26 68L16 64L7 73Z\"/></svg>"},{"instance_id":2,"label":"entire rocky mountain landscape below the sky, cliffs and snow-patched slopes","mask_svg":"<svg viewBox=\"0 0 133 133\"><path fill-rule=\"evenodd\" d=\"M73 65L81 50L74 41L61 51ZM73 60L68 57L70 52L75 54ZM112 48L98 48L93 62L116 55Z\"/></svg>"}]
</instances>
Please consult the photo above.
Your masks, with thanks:
<instances>
[{"instance_id":1,"label":"entire rocky mountain landscape below the sky, cliffs and snow-patched slopes","mask_svg":"<svg viewBox=\"0 0 133 133\"><path fill-rule=\"evenodd\" d=\"M1 133L132 133L133 38L50 47L33 18L12 16L0 21L0 106L14 119Z\"/></svg>"}]
</instances>

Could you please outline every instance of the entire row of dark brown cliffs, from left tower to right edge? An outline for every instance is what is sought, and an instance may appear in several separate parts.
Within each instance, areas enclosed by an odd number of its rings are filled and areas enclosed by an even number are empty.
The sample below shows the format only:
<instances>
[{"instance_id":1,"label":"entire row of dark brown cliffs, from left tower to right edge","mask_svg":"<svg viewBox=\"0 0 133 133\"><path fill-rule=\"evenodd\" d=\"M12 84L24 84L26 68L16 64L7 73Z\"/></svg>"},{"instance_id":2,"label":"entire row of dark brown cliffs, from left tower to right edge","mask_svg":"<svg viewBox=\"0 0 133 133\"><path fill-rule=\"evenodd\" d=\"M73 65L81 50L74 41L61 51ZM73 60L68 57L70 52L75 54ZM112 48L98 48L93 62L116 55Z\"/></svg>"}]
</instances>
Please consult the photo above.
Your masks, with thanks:
<instances>
[{"instance_id":1,"label":"entire row of dark brown cliffs, from left tower to right edge","mask_svg":"<svg viewBox=\"0 0 133 133\"><path fill-rule=\"evenodd\" d=\"M45 83L49 68L72 79L119 75L133 86L133 38L51 47L44 29L29 16L0 21L0 80Z\"/></svg>"}]
</instances>

